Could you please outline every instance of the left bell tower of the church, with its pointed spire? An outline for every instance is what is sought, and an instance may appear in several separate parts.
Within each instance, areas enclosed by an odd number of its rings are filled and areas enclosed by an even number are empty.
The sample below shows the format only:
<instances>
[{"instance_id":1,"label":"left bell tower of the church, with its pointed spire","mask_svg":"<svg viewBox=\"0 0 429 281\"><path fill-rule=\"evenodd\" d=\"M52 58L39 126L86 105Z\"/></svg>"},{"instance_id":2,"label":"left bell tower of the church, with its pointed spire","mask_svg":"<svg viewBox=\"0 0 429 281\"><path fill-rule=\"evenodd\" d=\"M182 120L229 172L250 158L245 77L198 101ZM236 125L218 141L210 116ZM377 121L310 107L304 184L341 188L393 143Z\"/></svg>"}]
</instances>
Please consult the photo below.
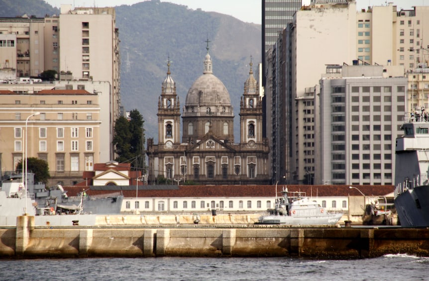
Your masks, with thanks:
<instances>
[{"instance_id":1,"label":"left bell tower of the church, with its pointed spire","mask_svg":"<svg viewBox=\"0 0 429 281\"><path fill-rule=\"evenodd\" d=\"M158 99L158 144L173 148L180 144L180 103L176 94L176 83L171 78L170 58L167 63L167 77L162 83Z\"/></svg>"}]
</instances>

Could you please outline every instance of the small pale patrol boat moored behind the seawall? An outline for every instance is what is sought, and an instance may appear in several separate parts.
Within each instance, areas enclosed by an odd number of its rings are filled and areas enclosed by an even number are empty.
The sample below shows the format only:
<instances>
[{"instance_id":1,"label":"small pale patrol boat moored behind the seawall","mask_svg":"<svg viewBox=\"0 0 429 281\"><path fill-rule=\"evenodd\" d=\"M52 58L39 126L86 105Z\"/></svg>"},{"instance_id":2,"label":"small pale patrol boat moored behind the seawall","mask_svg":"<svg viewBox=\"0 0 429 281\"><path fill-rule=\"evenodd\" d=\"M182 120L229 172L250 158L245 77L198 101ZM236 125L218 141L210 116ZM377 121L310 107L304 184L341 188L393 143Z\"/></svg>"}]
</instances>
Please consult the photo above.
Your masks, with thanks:
<instances>
[{"instance_id":1,"label":"small pale patrol boat moored behind the seawall","mask_svg":"<svg viewBox=\"0 0 429 281\"><path fill-rule=\"evenodd\" d=\"M276 207L268 209L268 214L259 217L256 224L328 225L336 224L341 217L342 213L327 212L305 192L288 192L286 188L276 200Z\"/></svg>"}]
</instances>

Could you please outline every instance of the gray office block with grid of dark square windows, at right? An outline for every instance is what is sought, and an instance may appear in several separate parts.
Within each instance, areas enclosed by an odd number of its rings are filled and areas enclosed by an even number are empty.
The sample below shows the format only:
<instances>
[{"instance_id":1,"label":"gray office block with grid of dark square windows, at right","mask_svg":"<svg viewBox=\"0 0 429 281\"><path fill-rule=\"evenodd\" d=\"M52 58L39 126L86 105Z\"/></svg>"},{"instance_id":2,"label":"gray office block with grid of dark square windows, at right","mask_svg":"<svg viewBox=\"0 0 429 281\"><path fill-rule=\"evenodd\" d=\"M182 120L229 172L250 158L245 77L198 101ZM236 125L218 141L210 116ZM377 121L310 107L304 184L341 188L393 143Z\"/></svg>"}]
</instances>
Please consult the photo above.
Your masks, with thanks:
<instances>
[{"instance_id":1,"label":"gray office block with grid of dark square windows, at right","mask_svg":"<svg viewBox=\"0 0 429 281\"><path fill-rule=\"evenodd\" d=\"M402 66L355 64L328 65L320 80L315 181L393 185L408 78Z\"/></svg>"}]
</instances>

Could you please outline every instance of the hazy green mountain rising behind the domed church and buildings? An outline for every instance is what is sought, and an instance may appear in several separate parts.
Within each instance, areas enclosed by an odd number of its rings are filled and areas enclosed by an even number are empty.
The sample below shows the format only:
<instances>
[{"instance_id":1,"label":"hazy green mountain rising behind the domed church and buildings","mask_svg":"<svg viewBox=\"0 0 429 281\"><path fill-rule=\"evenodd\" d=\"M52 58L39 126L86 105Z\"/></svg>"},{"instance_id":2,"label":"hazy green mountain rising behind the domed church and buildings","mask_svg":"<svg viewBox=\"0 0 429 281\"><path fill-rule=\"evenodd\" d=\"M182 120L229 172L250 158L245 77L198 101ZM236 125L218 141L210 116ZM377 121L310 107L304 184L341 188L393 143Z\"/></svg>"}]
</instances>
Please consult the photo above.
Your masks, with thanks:
<instances>
[{"instance_id":1,"label":"hazy green mountain rising behind the domed church and buildings","mask_svg":"<svg viewBox=\"0 0 429 281\"><path fill-rule=\"evenodd\" d=\"M27 1L34 3L26 7L27 14L34 14L31 9L42 4L48 7L41 16L52 12L52 7L43 0ZM9 2L0 0L0 6L5 3L10 6ZM9 15L0 11L0 16L14 16L20 14L20 10L22 7L15 5L14 11L7 12ZM157 142L158 97L166 77L168 59L183 107L189 88L203 74L206 41L209 39L214 75L231 96L234 135L238 141L240 97L249 75L250 56L254 71L261 61L261 26L229 15L193 10L159 0L119 5L115 10L120 39L121 102L125 110L136 108L143 115L146 138L153 137Z\"/></svg>"}]
</instances>

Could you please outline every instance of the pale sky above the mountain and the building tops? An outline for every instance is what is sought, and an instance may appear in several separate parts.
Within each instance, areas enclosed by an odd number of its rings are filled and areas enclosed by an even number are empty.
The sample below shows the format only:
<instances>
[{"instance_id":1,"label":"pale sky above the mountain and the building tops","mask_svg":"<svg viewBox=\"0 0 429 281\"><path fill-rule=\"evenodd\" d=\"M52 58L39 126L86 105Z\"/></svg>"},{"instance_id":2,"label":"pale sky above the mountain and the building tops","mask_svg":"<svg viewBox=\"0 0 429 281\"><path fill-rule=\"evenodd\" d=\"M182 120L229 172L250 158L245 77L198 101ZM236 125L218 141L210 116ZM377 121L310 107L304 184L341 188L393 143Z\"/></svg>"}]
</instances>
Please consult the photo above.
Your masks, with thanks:
<instances>
[{"instance_id":1,"label":"pale sky above the mountain and the building tops","mask_svg":"<svg viewBox=\"0 0 429 281\"><path fill-rule=\"evenodd\" d=\"M143 0L45 0L54 7L61 4L71 4L76 7L106 7L119 5L132 5ZM304 0L310 3L310 0ZM191 9L201 8L204 11L215 11L222 14L232 15L244 22L261 24L261 0L161 0L188 6ZM368 6L381 6L392 2L401 8L411 9L412 6L429 5L429 0L356 0L357 9L368 8Z\"/></svg>"}]
</instances>

